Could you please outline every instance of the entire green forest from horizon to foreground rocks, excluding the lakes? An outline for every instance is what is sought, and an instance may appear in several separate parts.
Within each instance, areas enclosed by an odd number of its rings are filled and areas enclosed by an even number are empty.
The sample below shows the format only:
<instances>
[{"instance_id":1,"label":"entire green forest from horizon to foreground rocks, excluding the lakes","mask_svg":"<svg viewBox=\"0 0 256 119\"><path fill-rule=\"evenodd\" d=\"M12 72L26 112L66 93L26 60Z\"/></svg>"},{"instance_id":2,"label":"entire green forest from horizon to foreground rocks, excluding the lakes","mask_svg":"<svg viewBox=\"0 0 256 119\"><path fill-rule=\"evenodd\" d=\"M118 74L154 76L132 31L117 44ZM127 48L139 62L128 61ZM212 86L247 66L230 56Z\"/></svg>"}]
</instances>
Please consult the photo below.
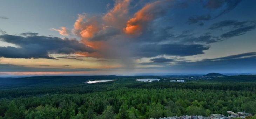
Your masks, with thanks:
<instances>
[{"instance_id":1,"label":"entire green forest from horizon to foreground rocks, excluding the lakes","mask_svg":"<svg viewBox=\"0 0 256 119\"><path fill-rule=\"evenodd\" d=\"M0 118L145 119L227 111L256 114L256 79L137 82L139 76L0 79ZM87 80L117 79L85 84ZM244 77L243 79L246 79ZM15 85L12 85L15 84Z\"/></svg>"}]
</instances>

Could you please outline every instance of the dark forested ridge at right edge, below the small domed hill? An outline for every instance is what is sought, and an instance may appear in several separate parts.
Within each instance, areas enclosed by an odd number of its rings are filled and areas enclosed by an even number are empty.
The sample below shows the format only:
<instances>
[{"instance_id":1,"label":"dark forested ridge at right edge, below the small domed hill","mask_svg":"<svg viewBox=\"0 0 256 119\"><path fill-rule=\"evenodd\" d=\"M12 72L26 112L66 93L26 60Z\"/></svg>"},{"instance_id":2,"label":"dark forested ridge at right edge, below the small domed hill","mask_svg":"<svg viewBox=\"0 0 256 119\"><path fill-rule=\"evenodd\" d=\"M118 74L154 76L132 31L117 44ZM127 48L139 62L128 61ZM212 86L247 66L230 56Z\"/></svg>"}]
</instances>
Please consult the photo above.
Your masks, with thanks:
<instances>
[{"instance_id":1,"label":"dark forested ridge at right edge, below the small domed hill","mask_svg":"<svg viewBox=\"0 0 256 119\"><path fill-rule=\"evenodd\" d=\"M238 76L224 76L224 77L216 77L213 79L214 81L231 81L231 82L255 82L256 75L238 75Z\"/></svg>"}]
</instances>

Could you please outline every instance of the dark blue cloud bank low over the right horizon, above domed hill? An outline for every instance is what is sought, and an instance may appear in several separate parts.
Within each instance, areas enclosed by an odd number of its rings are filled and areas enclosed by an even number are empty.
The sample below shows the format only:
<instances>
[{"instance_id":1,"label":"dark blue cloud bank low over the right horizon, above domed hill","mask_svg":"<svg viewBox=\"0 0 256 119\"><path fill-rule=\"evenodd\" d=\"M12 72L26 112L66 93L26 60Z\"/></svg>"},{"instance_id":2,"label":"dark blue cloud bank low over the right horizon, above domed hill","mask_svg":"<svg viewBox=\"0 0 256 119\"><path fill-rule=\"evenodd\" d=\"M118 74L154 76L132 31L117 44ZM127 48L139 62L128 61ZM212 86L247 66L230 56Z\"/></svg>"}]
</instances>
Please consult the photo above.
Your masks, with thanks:
<instances>
[{"instance_id":1,"label":"dark blue cloud bank low over the right horizon, above domed hill","mask_svg":"<svg viewBox=\"0 0 256 119\"><path fill-rule=\"evenodd\" d=\"M256 70L256 52L231 55L215 59L204 59L197 62L178 62L171 66L177 70L193 71L213 71L213 72L255 72Z\"/></svg>"}]
</instances>

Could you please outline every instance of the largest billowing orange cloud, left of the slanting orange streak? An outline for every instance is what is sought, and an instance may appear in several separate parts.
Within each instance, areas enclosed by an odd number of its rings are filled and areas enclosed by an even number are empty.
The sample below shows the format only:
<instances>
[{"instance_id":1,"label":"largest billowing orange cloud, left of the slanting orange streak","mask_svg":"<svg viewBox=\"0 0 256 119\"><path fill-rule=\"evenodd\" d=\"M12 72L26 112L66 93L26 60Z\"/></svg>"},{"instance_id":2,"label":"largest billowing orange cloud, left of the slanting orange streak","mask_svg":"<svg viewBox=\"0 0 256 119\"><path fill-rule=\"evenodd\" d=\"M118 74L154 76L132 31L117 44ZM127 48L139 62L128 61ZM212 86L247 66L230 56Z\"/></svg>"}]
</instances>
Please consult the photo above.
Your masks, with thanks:
<instances>
[{"instance_id":1,"label":"largest billowing orange cloud, left of the slanting orange streak","mask_svg":"<svg viewBox=\"0 0 256 119\"><path fill-rule=\"evenodd\" d=\"M83 44L97 51L79 54L88 57L105 57L102 52L108 50L108 45L110 45L107 43L108 38L118 35L126 26L129 4L130 0L116 0L114 8L110 9L102 17L93 16L88 18L85 13L79 14L72 32L81 37L80 41Z\"/></svg>"}]
</instances>

